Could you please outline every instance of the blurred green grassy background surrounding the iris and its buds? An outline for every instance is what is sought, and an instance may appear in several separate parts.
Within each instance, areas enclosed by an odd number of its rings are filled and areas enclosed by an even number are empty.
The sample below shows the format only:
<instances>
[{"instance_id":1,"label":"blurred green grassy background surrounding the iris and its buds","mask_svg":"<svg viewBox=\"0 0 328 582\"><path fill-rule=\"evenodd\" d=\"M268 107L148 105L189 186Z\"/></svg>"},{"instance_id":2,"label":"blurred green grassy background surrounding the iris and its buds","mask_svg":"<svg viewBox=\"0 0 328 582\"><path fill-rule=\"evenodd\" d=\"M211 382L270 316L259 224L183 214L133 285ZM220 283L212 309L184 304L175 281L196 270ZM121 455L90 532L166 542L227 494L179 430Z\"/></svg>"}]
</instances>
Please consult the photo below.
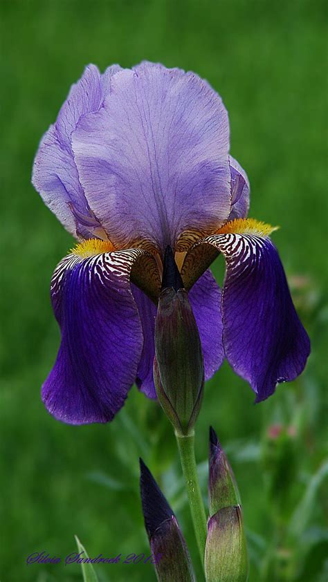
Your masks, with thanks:
<instances>
[{"instance_id":1,"label":"blurred green grassy background surrounding the iris and its buds","mask_svg":"<svg viewBox=\"0 0 328 582\"><path fill-rule=\"evenodd\" d=\"M147 58L196 71L221 93L231 151L250 178L250 216L281 226L274 240L312 341L302 377L257 406L228 365L208 382L197 424L204 496L212 424L242 494L250 582L327 582L324 3L1 0L0 15L1 581L80 580L78 565L26 565L32 552L74 552L74 534L90 556L149 554L138 456L161 482L199 573L175 442L158 406L133 388L111 424L74 427L56 422L39 397L60 340L49 281L72 239L30 185L33 156L86 64L103 71ZM222 265L213 271L220 279ZM103 582L155 578L151 565L97 572Z\"/></svg>"}]
</instances>

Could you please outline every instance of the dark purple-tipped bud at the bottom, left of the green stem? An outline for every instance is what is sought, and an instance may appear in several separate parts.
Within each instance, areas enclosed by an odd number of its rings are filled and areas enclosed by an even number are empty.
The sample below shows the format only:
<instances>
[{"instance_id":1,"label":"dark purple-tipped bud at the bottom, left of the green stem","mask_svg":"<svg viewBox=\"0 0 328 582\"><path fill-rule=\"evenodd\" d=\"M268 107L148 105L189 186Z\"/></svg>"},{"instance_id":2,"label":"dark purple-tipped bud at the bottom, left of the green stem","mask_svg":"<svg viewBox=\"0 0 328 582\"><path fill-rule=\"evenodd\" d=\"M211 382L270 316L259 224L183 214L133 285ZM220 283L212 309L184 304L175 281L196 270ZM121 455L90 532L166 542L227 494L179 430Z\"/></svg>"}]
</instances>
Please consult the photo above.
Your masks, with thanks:
<instances>
[{"instance_id":1,"label":"dark purple-tipped bud at the bottom, left of the green stem","mask_svg":"<svg viewBox=\"0 0 328 582\"><path fill-rule=\"evenodd\" d=\"M185 539L152 473L140 459L140 490L145 527L160 582L195 582Z\"/></svg>"}]
</instances>

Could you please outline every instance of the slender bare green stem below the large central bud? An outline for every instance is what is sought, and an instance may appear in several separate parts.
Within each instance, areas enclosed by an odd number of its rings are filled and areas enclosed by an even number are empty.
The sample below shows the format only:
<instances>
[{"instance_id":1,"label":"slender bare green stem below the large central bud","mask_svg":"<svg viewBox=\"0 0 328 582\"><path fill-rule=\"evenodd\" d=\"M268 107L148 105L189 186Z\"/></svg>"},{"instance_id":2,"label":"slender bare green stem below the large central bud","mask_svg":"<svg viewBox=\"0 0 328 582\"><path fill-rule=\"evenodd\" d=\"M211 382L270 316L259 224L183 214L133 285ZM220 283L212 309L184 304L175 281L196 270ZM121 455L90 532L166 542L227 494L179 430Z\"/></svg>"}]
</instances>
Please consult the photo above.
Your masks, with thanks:
<instances>
[{"instance_id":1,"label":"slender bare green stem below the large central bud","mask_svg":"<svg viewBox=\"0 0 328 582\"><path fill-rule=\"evenodd\" d=\"M201 489L197 476L197 464L194 457L194 433L188 436L176 433L180 460L187 485L192 523L194 524L194 534L197 539L201 563L204 564L205 544L207 536L206 514L201 498Z\"/></svg>"}]
</instances>

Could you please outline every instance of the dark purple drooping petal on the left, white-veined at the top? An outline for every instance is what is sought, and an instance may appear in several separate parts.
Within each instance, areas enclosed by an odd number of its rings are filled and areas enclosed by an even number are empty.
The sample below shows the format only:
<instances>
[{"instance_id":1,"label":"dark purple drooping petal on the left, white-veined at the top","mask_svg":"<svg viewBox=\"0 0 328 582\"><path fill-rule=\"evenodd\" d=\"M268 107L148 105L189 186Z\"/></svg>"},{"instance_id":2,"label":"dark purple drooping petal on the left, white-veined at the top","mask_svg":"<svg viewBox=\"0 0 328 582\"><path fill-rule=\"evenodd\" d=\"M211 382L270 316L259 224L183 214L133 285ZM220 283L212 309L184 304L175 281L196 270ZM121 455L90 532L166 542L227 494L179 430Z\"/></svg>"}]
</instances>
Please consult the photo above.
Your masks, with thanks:
<instances>
[{"instance_id":1,"label":"dark purple drooping petal on the left, white-veined at the top","mask_svg":"<svg viewBox=\"0 0 328 582\"><path fill-rule=\"evenodd\" d=\"M113 418L134 383L143 349L129 285L131 267L143 251L88 256L86 247L87 242L80 254L66 256L53 274L51 298L62 341L42 387L48 411L71 424Z\"/></svg>"}]
</instances>

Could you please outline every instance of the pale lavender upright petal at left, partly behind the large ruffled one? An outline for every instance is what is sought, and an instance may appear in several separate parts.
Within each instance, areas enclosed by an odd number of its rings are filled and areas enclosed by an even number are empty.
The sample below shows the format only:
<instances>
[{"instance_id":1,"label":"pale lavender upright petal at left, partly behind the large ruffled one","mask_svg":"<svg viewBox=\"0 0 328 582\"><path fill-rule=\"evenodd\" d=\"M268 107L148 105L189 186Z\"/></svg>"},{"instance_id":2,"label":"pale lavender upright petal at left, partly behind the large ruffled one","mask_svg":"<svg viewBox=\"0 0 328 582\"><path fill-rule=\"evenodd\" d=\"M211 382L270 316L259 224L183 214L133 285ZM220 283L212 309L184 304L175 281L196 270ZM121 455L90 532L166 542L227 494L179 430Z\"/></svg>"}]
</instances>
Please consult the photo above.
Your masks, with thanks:
<instances>
[{"instance_id":1,"label":"pale lavender upright petal at left, partly behind the large ruffled one","mask_svg":"<svg viewBox=\"0 0 328 582\"><path fill-rule=\"evenodd\" d=\"M33 185L44 203L73 236L107 238L80 185L71 148L71 134L78 120L89 111L98 111L109 91L109 79L118 66L100 75L94 65L86 67L80 81L71 87L57 122L45 133L33 166Z\"/></svg>"}]
</instances>

